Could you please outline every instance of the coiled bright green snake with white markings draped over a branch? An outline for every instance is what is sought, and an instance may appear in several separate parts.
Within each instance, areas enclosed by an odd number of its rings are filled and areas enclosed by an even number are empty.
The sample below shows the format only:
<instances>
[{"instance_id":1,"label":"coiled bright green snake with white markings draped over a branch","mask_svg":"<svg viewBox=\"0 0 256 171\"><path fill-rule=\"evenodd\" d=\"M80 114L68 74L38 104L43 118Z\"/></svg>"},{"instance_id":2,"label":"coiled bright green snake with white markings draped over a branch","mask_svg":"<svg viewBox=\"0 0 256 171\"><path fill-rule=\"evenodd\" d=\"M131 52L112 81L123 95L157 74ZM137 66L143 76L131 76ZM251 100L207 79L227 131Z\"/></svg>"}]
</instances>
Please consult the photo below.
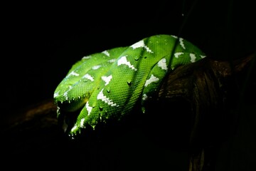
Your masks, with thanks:
<instances>
[{"instance_id":1,"label":"coiled bright green snake with white markings draped over a branch","mask_svg":"<svg viewBox=\"0 0 256 171\"><path fill-rule=\"evenodd\" d=\"M165 34L84 56L53 95L63 130L73 136L87 127L95 129L109 119L122 119L137 104L146 113L146 103L169 72L204 57L191 42ZM74 122L72 113L78 113Z\"/></svg>"}]
</instances>

